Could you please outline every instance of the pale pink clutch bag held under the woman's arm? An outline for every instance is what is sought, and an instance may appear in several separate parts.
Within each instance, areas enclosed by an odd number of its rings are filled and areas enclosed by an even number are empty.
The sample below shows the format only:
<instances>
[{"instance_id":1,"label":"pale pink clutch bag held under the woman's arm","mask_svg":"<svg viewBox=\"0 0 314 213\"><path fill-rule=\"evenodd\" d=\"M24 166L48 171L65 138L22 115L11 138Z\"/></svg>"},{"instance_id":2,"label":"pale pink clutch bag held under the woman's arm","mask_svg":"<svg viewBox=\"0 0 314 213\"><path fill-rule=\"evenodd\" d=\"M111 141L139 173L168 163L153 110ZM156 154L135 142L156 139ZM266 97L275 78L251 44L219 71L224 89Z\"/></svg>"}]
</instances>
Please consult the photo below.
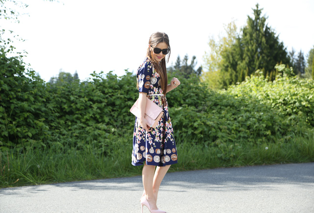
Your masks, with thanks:
<instances>
[{"instance_id":1,"label":"pale pink clutch bag held under the woman's arm","mask_svg":"<svg viewBox=\"0 0 314 213\"><path fill-rule=\"evenodd\" d=\"M145 107L145 116L147 120L147 125L152 126L153 128L156 128L158 121L163 115L163 110L152 100L150 100L148 97L146 97L146 107ZM130 112L136 116L137 118L140 116L140 111L138 108L138 99L135 101L133 106L130 109Z\"/></svg>"}]
</instances>

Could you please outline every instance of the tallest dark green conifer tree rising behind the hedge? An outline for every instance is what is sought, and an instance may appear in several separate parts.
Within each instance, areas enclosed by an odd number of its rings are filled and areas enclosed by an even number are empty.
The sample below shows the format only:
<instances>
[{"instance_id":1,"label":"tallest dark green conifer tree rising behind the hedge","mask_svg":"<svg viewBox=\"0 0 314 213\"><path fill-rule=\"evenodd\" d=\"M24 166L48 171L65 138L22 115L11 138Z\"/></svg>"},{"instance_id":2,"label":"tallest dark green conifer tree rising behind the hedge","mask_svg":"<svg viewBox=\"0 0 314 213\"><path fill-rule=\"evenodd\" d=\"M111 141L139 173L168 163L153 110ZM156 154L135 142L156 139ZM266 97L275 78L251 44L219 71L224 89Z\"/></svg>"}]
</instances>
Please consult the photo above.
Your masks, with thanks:
<instances>
[{"instance_id":1,"label":"tallest dark green conifer tree rising behind the hedge","mask_svg":"<svg viewBox=\"0 0 314 213\"><path fill-rule=\"evenodd\" d=\"M241 29L235 44L221 52L221 71L228 76L224 85L241 82L257 70L261 70L265 77L274 76L272 72L275 72L276 64L291 65L284 44L266 24L267 18L262 16L259 4L256 4L253 13L254 17L248 16L247 24Z\"/></svg>"}]
</instances>

